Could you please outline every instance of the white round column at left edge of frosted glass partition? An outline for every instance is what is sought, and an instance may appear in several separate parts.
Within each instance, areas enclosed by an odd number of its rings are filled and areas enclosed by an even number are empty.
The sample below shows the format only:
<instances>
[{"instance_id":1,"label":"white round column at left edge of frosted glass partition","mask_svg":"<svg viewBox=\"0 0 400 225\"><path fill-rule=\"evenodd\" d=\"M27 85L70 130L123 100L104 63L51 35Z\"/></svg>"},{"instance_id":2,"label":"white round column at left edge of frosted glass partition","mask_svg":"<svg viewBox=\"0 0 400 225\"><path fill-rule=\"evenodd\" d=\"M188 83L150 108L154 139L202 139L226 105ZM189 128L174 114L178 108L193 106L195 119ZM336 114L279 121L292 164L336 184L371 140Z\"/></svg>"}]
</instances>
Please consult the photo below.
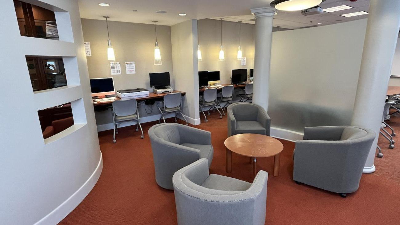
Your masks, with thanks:
<instances>
[{"instance_id":1,"label":"white round column at left edge of frosted glass partition","mask_svg":"<svg viewBox=\"0 0 400 225\"><path fill-rule=\"evenodd\" d=\"M275 9L271 7L256 8L251 12L256 18L253 102L268 110L272 20Z\"/></svg>"}]
</instances>

